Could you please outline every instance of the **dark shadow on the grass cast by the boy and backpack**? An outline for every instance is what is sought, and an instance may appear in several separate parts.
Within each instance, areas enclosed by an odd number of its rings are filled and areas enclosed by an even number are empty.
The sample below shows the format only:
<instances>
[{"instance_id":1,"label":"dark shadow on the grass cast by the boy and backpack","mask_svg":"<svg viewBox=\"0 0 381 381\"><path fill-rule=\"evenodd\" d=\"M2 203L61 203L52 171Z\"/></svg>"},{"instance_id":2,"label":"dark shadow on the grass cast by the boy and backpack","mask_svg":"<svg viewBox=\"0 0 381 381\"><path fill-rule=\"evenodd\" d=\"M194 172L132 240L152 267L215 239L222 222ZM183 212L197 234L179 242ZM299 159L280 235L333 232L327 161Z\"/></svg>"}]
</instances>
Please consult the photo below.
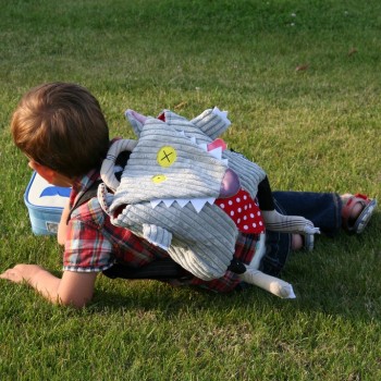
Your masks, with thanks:
<instances>
[{"instance_id":1,"label":"dark shadow on the grass cast by the boy and backpack","mask_svg":"<svg viewBox=\"0 0 381 381\"><path fill-rule=\"evenodd\" d=\"M378 224L377 224L378 225ZM381 248L372 226L362 236L319 237L314 253L295 253L282 273L294 286L296 299L280 299L255 286L230 294L195 287L172 287L158 281L109 280L97 285L93 312L107 310L156 310L168 318L185 310L212 315L230 311L236 318L258 319L281 311L342 316L374 320L381 310ZM373 241L374 239L374 241Z\"/></svg>"}]
</instances>

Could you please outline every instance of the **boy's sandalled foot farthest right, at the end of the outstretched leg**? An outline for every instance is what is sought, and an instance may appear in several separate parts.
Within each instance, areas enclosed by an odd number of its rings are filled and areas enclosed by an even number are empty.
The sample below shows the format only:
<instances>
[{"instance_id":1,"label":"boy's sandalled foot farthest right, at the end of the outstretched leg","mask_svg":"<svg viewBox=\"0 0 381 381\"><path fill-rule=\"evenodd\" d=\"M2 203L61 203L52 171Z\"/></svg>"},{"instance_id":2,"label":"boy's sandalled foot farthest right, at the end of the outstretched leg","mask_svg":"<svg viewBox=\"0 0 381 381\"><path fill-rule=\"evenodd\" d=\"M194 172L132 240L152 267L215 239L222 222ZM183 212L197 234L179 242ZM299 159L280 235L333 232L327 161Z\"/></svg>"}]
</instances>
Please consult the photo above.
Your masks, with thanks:
<instances>
[{"instance_id":1,"label":"boy's sandalled foot farthest right, at the end of the outstretched leg","mask_svg":"<svg viewBox=\"0 0 381 381\"><path fill-rule=\"evenodd\" d=\"M341 198L343 229L349 234L362 233L376 210L377 200L361 194L345 194Z\"/></svg>"}]
</instances>

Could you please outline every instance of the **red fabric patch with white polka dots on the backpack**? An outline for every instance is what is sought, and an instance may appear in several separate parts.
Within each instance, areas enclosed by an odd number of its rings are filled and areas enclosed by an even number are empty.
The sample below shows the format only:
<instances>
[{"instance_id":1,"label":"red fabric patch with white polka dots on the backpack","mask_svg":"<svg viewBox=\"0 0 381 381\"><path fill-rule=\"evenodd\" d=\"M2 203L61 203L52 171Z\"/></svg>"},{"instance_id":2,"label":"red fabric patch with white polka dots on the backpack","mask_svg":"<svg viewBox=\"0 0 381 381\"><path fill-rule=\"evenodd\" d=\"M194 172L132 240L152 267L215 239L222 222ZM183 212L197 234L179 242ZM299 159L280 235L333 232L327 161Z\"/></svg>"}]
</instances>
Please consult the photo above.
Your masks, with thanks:
<instances>
[{"instance_id":1,"label":"red fabric patch with white polka dots on the backpack","mask_svg":"<svg viewBox=\"0 0 381 381\"><path fill-rule=\"evenodd\" d=\"M265 232L262 213L248 192L241 189L229 198L219 198L214 202L236 224L239 232L260 234Z\"/></svg>"}]
</instances>

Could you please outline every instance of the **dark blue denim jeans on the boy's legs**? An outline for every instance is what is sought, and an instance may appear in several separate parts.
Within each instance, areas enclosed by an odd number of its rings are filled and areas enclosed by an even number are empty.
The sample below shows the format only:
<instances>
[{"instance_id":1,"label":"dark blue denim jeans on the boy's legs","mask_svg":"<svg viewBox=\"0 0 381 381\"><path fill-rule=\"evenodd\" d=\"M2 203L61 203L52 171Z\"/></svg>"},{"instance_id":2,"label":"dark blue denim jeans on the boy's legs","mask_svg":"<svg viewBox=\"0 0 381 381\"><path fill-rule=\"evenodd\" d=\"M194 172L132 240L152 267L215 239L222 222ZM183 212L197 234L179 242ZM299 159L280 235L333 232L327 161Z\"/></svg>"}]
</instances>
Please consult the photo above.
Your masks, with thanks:
<instances>
[{"instance_id":1,"label":"dark blue denim jeans on the boy's legs","mask_svg":"<svg viewBox=\"0 0 381 381\"><path fill-rule=\"evenodd\" d=\"M276 210L283 214L303 216L321 233L334 236L342 224L342 201L335 193L273 192ZM266 254L260 270L279 275L291 251L292 235L266 232Z\"/></svg>"}]
</instances>

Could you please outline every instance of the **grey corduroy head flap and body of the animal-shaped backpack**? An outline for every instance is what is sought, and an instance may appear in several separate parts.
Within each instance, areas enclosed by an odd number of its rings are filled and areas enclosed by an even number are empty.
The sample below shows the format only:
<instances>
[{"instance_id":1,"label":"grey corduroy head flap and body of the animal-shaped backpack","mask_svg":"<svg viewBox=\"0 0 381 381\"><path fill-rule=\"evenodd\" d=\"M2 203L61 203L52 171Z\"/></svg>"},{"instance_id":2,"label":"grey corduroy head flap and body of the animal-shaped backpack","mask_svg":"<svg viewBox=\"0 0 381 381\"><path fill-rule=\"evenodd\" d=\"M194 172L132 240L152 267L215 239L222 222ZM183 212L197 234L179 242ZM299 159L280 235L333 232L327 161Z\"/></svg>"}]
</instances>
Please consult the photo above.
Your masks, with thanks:
<instances>
[{"instance_id":1,"label":"grey corduroy head flap and body of the animal-shaped backpack","mask_svg":"<svg viewBox=\"0 0 381 381\"><path fill-rule=\"evenodd\" d=\"M201 280L223 276L238 234L233 220L208 202L197 212L189 202L180 206L174 201L170 207L160 202L152 208L149 201L218 197L226 165L198 145L211 143L230 121L216 110L205 111L194 123L171 111L164 111L165 122L148 118L140 123L133 112L126 115L139 139L110 205L112 223L168 247L179 265ZM177 155L176 162L169 167L158 164L158 150L163 146L174 148ZM225 150L222 157L229 159L228 165L238 175L242 188L255 198L265 171L239 153ZM156 175L164 175L165 180L155 183ZM108 197L105 187L101 189L99 199L108 211Z\"/></svg>"}]
</instances>

